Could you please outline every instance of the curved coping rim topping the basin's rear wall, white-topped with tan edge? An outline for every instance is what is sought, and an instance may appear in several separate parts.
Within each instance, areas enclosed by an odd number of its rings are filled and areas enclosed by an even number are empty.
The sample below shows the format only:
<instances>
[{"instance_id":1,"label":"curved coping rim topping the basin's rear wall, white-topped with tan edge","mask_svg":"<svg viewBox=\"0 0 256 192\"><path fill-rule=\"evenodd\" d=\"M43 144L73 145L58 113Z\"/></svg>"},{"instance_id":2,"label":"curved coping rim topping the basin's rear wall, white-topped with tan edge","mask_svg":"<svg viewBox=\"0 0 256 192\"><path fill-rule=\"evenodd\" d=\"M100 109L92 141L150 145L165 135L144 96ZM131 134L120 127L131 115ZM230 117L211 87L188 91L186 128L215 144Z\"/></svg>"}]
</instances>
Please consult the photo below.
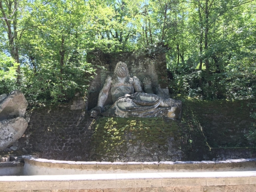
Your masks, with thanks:
<instances>
[{"instance_id":1,"label":"curved coping rim topping the basin's rear wall, white-topped with tan edge","mask_svg":"<svg viewBox=\"0 0 256 192\"><path fill-rule=\"evenodd\" d=\"M256 170L256 158L226 161L161 161L161 162L74 162L33 158L24 156L25 164L58 169L78 169L90 171L223 171ZM89 172L90 173L90 172Z\"/></svg>"}]
</instances>

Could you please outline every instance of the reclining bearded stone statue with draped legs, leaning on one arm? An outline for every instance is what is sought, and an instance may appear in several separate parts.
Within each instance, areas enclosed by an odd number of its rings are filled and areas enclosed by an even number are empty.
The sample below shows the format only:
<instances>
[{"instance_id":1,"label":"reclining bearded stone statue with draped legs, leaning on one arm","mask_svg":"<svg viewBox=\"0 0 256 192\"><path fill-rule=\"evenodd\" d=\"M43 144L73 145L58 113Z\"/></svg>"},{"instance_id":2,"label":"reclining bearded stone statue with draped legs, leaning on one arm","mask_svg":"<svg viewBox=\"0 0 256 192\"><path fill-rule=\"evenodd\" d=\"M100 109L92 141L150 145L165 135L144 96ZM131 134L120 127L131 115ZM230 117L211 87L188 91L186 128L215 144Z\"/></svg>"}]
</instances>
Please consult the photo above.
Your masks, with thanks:
<instances>
[{"instance_id":1,"label":"reclining bearded stone statue with draped legs, leaning on one arm","mask_svg":"<svg viewBox=\"0 0 256 192\"><path fill-rule=\"evenodd\" d=\"M104 107L111 92L114 104ZM127 65L118 62L114 76L108 76L100 91L98 104L90 110L92 118L103 116L119 117L168 117L180 118L182 102L172 98L163 98L156 94L144 93L137 77L130 77Z\"/></svg>"}]
</instances>

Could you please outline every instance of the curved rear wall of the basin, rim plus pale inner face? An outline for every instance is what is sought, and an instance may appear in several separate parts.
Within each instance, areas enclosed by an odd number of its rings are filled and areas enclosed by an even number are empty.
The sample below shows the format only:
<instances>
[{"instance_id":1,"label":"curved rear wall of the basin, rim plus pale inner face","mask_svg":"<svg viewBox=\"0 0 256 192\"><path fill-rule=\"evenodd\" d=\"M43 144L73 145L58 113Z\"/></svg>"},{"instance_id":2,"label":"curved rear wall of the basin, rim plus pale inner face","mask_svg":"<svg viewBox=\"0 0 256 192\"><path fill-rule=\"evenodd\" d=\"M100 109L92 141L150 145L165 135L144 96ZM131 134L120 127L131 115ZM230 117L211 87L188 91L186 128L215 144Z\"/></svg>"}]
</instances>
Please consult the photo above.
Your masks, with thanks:
<instances>
[{"instance_id":1,"label":"curved rear wall of the basin, rim plus pale inner face","mask_svg":"<svg viewBox=\"0 0 256 192\"><path fill-rule=\"evenodd\" d=\"M24 157L24 175L254 171L256 158L227 161L74 162Z\"/></svg>"}]
</instances>

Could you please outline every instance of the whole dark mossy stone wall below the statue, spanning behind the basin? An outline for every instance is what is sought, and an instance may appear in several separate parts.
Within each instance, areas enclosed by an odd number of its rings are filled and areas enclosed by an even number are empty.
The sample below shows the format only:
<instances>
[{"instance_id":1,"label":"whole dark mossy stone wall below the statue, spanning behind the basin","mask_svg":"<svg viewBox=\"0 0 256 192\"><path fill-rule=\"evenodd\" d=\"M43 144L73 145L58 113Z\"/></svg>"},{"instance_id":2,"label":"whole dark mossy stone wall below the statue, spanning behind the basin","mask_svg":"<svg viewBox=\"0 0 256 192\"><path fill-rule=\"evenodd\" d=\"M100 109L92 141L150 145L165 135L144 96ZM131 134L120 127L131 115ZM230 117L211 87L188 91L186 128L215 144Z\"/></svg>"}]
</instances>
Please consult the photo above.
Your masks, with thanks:
<instances>
[{"instance_id":1,"label":"whole dark mossy stone wall below the statue, spanning behind the basin","mask_svg":"<svg viewBox=\"0 0 256 192\"><path fill-rule=\"evenodd\" d=\"M90 119L70 107L30 111L18 149L42 158L76 161L176 161L254 158L246 137L252 101L203 101L184 96L182 118ZM1 154L0 154L1 155Z\"/></svg>"}]
</instances>

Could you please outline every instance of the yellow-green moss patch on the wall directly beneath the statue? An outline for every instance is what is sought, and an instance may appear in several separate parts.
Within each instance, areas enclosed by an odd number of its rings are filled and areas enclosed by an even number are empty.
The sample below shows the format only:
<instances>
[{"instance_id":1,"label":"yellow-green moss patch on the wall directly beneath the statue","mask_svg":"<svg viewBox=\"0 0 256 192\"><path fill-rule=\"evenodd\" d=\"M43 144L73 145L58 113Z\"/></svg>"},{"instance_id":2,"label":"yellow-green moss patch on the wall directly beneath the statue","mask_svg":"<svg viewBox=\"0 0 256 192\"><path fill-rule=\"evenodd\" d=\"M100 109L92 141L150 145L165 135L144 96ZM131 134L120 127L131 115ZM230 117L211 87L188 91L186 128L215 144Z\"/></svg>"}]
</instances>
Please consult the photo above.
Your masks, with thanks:
<instances>
[{"instance_id":1,"label":"yellow-green moss patch on the wall directly beneath the statue","mask_svg":"<svg viewBox=\"0 0 256 192\"><path fill-rule=\"evenodd\" d=\"M93 120L92 146L97 156L127 151L127 143L144 146L165 145L170 137L180 136L178 121L164 118L111 118Z\"/></svg>"}]
</instances>

